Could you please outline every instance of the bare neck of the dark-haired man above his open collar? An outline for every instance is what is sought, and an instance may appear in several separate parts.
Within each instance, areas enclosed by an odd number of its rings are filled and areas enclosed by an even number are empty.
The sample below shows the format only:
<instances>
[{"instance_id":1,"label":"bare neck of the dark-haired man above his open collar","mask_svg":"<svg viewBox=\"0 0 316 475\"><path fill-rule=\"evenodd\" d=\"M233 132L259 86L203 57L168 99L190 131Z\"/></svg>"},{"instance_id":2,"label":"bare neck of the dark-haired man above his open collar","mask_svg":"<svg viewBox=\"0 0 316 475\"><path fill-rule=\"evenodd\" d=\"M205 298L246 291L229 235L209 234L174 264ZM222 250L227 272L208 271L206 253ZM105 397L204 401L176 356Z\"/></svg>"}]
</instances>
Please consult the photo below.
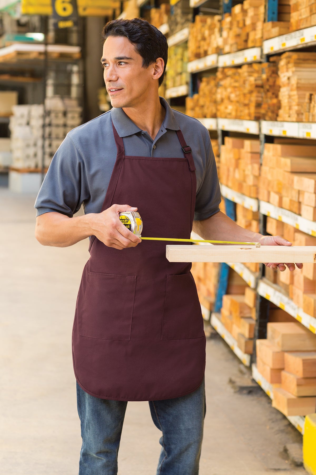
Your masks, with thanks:
<instances>
[{"instance_id":1,"label":"bare neck of the dark-haired man above his open collar","mask_svg":"<svg viewBox=\"0 0 316 475\"><path fill-rule=\"evenodd\" d=\"M146 97L135 107L123 107L122 109L137 127L148 132L154 140L166 115L165 108L160 104L159 95L151 99Z\"/></svg>"}]
</instances>

